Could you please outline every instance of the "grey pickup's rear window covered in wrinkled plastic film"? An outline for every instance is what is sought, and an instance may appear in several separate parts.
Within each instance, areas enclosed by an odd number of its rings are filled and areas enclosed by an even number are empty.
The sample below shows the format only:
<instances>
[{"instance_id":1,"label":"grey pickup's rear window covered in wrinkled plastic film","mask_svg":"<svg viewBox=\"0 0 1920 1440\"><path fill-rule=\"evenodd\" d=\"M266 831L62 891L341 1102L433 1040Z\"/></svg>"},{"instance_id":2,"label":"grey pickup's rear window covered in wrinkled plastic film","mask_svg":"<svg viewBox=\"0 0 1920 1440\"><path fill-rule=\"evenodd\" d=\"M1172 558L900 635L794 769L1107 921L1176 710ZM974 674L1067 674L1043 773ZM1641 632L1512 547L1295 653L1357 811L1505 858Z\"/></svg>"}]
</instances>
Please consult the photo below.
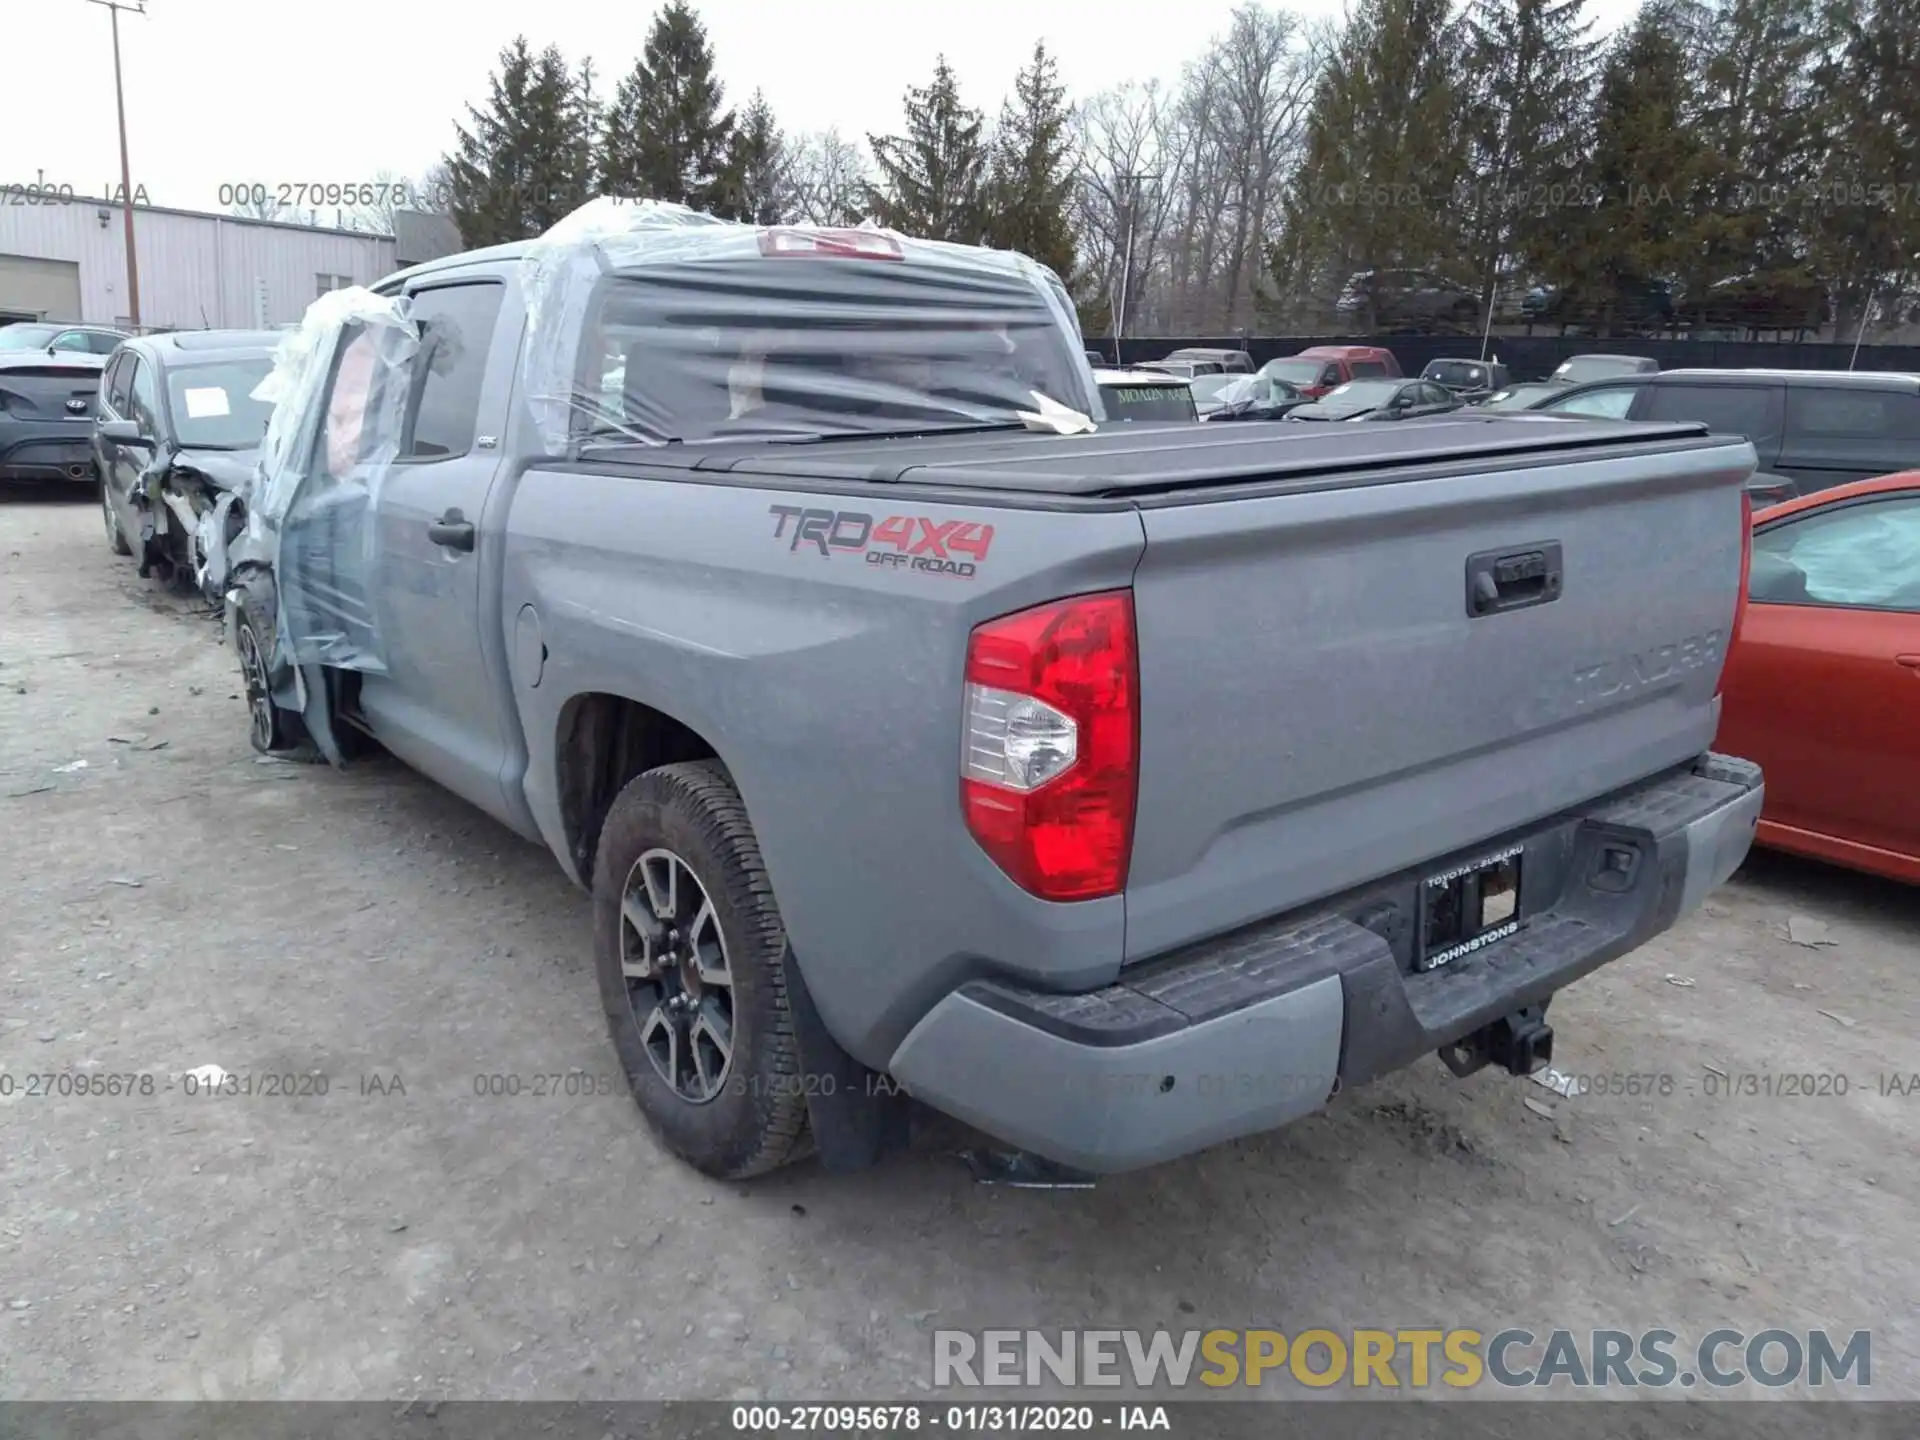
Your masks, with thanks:
<instances>
[{"instance_id":1,"label":"grey pickup's rear window covered in wrinkled plastic film","mask_svg":"<svg viewBox=\"0 0 1920 1440\"><path fill-rule=\"evenodd\" d=\"M756 257L601 282L574 434L645 444L1020 424L1091 413L1079 338L1018 275Z\"/></svg>"}]
</instances>

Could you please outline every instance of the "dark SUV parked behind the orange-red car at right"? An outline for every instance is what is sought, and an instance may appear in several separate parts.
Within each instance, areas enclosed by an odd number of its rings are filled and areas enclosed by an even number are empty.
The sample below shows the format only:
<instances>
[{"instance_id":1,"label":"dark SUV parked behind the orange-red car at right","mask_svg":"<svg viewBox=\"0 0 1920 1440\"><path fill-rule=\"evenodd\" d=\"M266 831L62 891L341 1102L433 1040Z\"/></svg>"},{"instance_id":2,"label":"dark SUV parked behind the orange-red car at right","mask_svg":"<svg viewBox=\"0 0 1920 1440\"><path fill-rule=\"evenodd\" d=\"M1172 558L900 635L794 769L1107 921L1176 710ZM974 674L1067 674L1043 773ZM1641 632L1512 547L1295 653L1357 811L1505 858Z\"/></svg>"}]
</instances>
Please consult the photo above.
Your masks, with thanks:
<instances>
[{"instance_id":1,"label":"dark SUV parked behind the orange-red car at right","mask_svg":"<svg viewBox=\"0 0 1920 1440\"><path fill-rule=\"evenodd\" d=\"M1887 371L1661 371L1565 386L1530 411L1615 420L1701 420L1745 436L1763 499L1920 468L1920 374Z\"/></svg>"}]
</instances>

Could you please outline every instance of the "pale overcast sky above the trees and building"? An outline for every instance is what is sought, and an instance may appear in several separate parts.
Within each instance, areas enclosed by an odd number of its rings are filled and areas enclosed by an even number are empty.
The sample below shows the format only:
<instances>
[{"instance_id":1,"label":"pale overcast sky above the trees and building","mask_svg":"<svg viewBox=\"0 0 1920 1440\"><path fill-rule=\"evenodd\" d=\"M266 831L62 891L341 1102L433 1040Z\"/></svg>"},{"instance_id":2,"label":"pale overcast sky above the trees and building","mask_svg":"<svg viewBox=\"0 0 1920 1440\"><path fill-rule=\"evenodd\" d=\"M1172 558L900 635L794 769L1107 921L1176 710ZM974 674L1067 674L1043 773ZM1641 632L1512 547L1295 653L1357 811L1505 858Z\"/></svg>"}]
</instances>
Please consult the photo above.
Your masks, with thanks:
<instances>
[{"instance_id":1,"label":"pale overcast sky above the trees and building","mask_svg":"<svg viewBox=\"0 0 1920 1440\"><path fill-rule=\"evenodd\" d=\"M1592 0L1603 25L1634 0ZM728 100L766 92L791 131L889 132L900 96L947 54L968 104L996 111L1037 38L1069 96L1173 81L1233 0L699 0ZM1340 0L1300 0L1302 15ZM100 194L119 182L108 12L88 0L4 0L10 52L0 184ZM134 186L156 205L221 209L225 182L342 184L419 177L486 94L503 44L591 54L611 94L651 6L609 0L146 0L121 15ZM79 96L92 96L83 104ZM44 117L38 123L35 117ZM6 196L0 194L0 202Z\"/></svg>"}]
</instances>

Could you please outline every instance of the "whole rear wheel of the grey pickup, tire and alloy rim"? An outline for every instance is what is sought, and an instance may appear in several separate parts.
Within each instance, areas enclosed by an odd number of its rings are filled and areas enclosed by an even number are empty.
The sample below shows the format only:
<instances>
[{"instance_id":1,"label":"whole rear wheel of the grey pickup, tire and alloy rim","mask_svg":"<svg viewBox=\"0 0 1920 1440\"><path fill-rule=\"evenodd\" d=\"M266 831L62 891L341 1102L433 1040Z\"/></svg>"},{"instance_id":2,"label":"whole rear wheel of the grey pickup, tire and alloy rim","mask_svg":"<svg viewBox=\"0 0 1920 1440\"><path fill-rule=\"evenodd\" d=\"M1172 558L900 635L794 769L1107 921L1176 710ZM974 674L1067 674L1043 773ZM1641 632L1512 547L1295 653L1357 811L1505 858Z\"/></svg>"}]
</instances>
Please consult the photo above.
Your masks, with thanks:
<instances>
[{"instance_id":1,"label":"whole rear wheel of the grey pickup, tire and alloy rim","mask_svg":"<svg viewBox=\"0 0 1920 1440\"><path fill-rule=\"evenodd\" d=\"M745 1179L806 1154L787 931L718 760L649 770L607 812L593 960L628 1085L666 1148Z\"/></svg>"}]
</instances>

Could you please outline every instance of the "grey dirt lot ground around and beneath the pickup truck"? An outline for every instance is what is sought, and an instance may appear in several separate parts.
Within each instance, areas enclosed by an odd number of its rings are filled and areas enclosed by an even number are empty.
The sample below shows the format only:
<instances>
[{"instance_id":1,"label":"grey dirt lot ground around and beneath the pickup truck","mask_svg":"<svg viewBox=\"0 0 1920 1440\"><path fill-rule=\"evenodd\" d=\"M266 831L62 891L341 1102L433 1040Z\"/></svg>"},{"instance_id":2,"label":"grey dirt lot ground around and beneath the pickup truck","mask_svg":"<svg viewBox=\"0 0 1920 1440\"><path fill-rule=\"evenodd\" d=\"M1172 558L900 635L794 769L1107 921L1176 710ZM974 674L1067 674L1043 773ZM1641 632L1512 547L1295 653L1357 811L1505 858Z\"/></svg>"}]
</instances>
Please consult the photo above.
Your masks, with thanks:
<instances>
[{"instance_id":1,"label":"grey dirt lot ground around and beneath the pickup truck","mask_svg":"<svg viewBox=\"0 0 1920 1440\"><path fill-rule=\"evenodd\" d=\"M1920 1071L1920 891L1761 856L1557 1000L1561 1069L1665 1096L1425 1062L1091 1192L975 1185L943 1123L728 1187L597 1092L553 860L394 762L255 760L236 691L94 505L0 493L0 1396L899 1398L935 1327L1778 1325L1870 1329L1920 1398L1920 1094L1878 1085Z\"/></svg>"}]
</instances>

